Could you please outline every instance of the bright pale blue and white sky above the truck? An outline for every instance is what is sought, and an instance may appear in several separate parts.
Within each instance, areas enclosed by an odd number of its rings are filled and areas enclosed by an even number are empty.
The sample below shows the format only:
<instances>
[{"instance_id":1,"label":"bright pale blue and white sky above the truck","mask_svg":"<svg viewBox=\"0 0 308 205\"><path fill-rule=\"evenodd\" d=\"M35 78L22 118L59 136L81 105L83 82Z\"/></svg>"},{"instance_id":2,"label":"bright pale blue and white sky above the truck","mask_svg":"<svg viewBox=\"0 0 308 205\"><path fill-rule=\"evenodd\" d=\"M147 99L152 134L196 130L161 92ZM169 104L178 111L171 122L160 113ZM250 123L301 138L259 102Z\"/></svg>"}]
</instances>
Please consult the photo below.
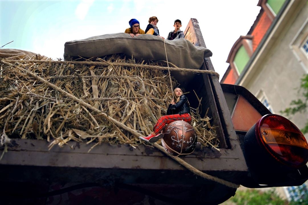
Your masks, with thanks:
<instances>
[{"instance_id":1,"label":"bright pale blue and white sky above the truck","mask_svg":"<svg viewBox=\"0 0 308 205\"><path fill-rule=\"evenodd\" d=\"M194 2L194 3L193 3ZM246 35L261 7L258 0L0 0L0 46L63 59L64 43L91 36L124 32L136 18L145 30L156 16L160 35L167 38L175 19L185 30L190 18L199 22L211 61L220 80L234 42Z\"/></svg>"}]
</instances>

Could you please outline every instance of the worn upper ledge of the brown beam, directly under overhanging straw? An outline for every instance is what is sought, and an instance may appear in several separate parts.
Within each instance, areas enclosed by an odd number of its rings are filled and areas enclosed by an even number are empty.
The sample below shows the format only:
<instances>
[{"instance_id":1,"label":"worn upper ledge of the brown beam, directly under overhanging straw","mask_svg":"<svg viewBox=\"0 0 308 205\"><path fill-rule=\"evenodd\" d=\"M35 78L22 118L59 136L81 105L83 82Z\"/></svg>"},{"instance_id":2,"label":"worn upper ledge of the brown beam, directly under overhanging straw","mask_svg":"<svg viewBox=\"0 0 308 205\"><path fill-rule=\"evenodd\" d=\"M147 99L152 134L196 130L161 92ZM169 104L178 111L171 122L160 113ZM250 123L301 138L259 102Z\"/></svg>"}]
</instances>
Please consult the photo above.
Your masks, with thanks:
<instances>
[{"instance_id":1,"label":"worn upper ledge of the brown beam, directly under overhanging straw","mask_svg":"<svg viewBox=\"0 0 308 205\"><path fill-rule=\"evenodd\" d=\"M157 156L164 157L165 154L157 150L155 147L149 146L137 146L133 149L129 145L117 145L102 143L94 147L89 153L89 149L95 143L79 143L70 141L64 147L55 145L51 150L48 150L48 142L45 140L35 139L14 139L11 146L8 148L9 151L33 151L33 152L55 152L55 153L80 153L80 154L99 154L99 155L131 155L131 156ZM73 148L71 148L73 147ZM0 150L3 149L0 148ZM237 155L234 155L232 150L220 149L217 151L209 147L203 147L201 150L195 150L193 154L186 155L186 158L197 158L203 160L203 158L221 158L221 159L237 159ZM1 163L1 161L0 161Z\"/></svg>"}]
</instances>

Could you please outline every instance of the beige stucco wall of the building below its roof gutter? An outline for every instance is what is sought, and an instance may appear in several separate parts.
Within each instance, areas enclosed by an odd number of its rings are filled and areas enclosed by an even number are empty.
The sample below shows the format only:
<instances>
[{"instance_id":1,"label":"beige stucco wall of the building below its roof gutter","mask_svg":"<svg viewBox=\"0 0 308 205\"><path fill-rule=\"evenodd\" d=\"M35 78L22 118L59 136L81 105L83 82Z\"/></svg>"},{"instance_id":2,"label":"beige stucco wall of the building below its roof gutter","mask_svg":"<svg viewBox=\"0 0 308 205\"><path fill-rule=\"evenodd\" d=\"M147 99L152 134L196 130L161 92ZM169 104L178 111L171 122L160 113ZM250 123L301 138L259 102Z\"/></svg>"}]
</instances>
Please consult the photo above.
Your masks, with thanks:
<instances>
[{"instance_id":1,"label":"beige stucco wall of the building below its roof gutter","mask_svg":"<svg viewBox=\"0 0 308 205\"><path fill-rule=\"evenodd\" d=\"M285 16L281 22L283 26L278 29L279 34L274 35L271 39L274 42L264 51L266 55L258 59L253 67L254 71L249 73L250 77L243 78L241 82L242 86L256 96L262 90L273 112L279 115L282 115L280 111L290 107L292 100L301 97L296 88L300 85L300 79L308 72L306 61L301 61L291 46L299 31L308 27L305 28L308 22L308 4L307 1L302 2L305 3L294 6L289 11L292 13ZM294 115L291 121L302 129L307 119L308 112ZM305 136L308 139L308 135Z\"/></svg>"}]
</instances>

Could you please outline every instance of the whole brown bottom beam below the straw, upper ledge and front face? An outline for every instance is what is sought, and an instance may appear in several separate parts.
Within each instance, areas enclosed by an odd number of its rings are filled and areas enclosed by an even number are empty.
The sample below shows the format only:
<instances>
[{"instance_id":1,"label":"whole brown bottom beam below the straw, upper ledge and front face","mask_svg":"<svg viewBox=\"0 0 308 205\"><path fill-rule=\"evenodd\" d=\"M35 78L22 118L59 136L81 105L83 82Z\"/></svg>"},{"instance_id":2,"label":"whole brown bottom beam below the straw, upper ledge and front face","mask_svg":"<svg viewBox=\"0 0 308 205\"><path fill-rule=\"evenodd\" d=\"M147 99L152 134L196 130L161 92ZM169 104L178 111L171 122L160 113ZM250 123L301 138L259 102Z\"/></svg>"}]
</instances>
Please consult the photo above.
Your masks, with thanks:
<instances>
[{"instance_id":1,"label":"whole brown bottom beam below the straw, upper ledge and front face","mask_svg":"<svg viewBox=\"0 0 308 205\"><path fill-rule=\"evenodd\" d=\"M30 150L27 150L24 146L16 146L14 150L9 149L0 161L0 165L140 169L140 171L143 169L184 169L172 158L160 153L155 148L151 148L151 150L136 149L131 151L125 146L122 148L104 144L104 147L97 146L99 148L96 152L92 152L94 151L92 150L90 153L87 153L86 148L91 147L91 145L87 145L86 143L80 143L79 150L68 150L67 146L55 149L55 151L48 151L47 143L44 143L43 140L31 140L32 142L30 143L26 142L26 139L19 139L18 141L22 145L27 145ZM118 152L116 153L115 150ZM121 152L122 154L119 154ZM136 155L137 153L138 155ZM211 153L209 158L189 155L193 157L185 157L183 159L203 171L247 170L245 166L241 166L239 159L228 158L228 153L231 153L231 151L226 150L223 156L217 155L219 153L216 152L215 154Z\"/></svg>"}]
</instances>

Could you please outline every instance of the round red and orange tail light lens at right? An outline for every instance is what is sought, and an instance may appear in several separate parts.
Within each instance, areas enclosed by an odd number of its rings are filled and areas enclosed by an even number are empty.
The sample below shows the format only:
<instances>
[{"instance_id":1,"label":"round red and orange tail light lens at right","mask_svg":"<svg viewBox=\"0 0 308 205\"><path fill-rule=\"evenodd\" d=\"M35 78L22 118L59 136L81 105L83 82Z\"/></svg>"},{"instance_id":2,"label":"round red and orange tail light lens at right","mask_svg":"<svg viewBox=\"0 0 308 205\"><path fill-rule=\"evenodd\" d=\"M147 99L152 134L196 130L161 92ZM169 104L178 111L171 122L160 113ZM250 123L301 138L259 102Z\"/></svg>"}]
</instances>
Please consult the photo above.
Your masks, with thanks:
<instances>
[{"instance_id":1,"label":"round red and orange tail light lens at right","mask_svg":"<svg viewBox=\"0 0 308 205\"><path fill-rule=\"evenodd\" d=\"M255 129L258 141L279 162L295 168L308 162L308 143L290 120L280 115L264 115Z\"/></svg>"}]
</instances>

